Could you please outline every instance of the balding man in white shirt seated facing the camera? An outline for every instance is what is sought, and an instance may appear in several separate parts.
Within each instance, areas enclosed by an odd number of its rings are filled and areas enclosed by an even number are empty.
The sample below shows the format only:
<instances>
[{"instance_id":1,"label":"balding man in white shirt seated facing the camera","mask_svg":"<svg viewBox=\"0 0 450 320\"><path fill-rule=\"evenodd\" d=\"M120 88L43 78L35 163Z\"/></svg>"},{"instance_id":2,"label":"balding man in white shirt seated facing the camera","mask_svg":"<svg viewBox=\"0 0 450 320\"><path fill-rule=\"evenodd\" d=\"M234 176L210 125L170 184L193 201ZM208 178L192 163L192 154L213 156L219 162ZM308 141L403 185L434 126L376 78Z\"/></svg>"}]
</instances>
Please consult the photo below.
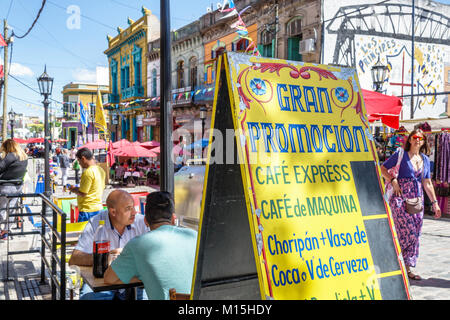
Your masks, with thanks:
<instances>
[{"instance_id":1,"label":"balding man in white shirt seated facing the camera","mask_svg":"<svg viewBox=\"0 0 450 320\"><path fill-rule=\"evenodd\" d=\"M105 226L108 226L110 256L119 254L122 248L132 238L149 231L144 221L144 216L137 214L134 208L133 197L128 192L123 190L112 191L106 199L106 205L108 206L107 211L104 210L89 219L88 224L78 239L78 244L72 252L69 265L93 265L92 249L94 233L97 230L100 220L104 220ZM138 290L138 299L142 296L142 293L142 290L140 292ZM80 300L112 300L124 298L124 290L93 292L86 284L80 290Z\"/></svg>"}]
</instances>

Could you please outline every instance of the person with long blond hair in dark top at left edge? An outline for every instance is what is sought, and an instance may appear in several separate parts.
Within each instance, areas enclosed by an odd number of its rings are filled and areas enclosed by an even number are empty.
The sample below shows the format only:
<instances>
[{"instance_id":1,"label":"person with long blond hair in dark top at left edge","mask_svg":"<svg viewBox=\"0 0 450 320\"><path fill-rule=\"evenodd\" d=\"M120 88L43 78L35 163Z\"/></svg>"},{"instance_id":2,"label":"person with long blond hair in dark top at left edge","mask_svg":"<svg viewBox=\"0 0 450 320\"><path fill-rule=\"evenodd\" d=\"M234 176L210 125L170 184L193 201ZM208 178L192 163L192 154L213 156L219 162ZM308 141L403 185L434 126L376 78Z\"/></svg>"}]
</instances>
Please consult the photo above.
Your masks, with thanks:
<instances>
[{"instance_id":1,"label":"person with long blond hair in dark top at left edge","mask_svg":"<svg viewBox=\"0 0 450 320\"><path fill-rule=\"evenodd\" d=\"M23 188L23 178L27 171L28 156L22 150L20 145L12 139L7 139L0 147L0 194L19 194ZM8 236L8 224L6 208L15 207L17 198L9 200L6 197L0 197L0 223L2 224L0 239L6 239ZM9 201L9 204L8 204Z\"/></svg>"}]
</instances>

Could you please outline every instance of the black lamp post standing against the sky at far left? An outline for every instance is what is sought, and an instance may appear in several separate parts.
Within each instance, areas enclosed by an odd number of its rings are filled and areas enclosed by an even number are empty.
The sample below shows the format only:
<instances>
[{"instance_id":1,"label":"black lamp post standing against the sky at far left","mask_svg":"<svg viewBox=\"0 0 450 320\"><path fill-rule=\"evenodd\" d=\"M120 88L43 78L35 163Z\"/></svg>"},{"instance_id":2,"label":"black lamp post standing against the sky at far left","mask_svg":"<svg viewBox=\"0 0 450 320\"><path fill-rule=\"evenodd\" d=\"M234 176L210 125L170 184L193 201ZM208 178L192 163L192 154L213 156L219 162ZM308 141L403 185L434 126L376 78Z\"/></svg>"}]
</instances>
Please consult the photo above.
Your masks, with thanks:
<instances>
[{"instance_id":1,"label":"black lamp post standing against the sky at far left","mask_svg":"<svg viewBox=\"0 0 450 320\"><path fill-rule=\"evenodd\" d=\"M48 97L52 94L53 90L53 78L51 78L47 74L47 66L45 66L44 73L37 79L39 85L39 92L44 96L44 132L45 132L45 195L50 197L51 189L50 189L50 165L49 165L49 151L50 151L50 130L48 127L48 106L50 105L50 101Z\"/></svg>"}]
</instances>

